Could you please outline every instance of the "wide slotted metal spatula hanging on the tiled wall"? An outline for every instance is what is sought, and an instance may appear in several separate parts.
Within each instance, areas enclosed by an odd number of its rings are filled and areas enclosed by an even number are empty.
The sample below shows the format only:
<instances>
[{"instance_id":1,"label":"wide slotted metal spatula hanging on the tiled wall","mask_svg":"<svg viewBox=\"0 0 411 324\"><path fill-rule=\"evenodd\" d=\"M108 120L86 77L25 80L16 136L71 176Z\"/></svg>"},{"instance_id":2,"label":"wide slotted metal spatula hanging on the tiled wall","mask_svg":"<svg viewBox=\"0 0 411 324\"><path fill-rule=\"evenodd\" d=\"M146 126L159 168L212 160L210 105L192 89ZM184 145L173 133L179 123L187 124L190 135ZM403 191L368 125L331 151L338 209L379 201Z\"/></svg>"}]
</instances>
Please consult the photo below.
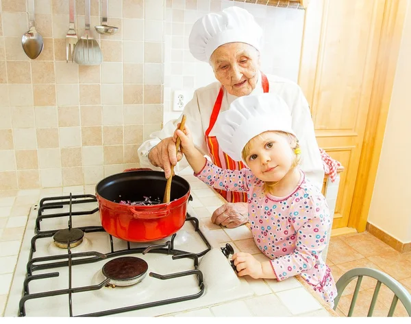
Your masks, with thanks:
<instances>
[{"instance_id":1,"label":"wide slotted metal spatula hanging on the tiled wall","mask_svg":"<svg viewBox=\"0 0 411 324\"><path fill-rule=\"evenodd\" d=\"M100 65L103 62L103 54L99 43L90 32L90 0L84 1L85 5L85 30L74 49L74 60L78 65Z\"/></svg>"}]
</instances>

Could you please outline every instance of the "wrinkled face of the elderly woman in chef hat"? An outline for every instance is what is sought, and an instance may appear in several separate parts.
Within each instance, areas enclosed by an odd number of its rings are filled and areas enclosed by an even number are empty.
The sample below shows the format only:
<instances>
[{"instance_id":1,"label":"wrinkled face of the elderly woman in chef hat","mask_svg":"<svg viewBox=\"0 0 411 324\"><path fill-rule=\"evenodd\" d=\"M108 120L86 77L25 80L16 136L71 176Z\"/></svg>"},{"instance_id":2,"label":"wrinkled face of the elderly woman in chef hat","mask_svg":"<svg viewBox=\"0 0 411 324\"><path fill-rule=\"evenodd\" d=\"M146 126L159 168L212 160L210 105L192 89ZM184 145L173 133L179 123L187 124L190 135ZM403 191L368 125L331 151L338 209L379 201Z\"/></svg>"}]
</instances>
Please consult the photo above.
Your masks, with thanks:
<instances>
[{"instance_id":1,"label":"wrinkled face of the elderly woman in chef hat","mask_svg":"<svg viewBox=\"0 0 411 324\"><path fill-rule=\"evenodd\" d=\"M212 53L210 64L216 79L228 93L241 97L256 88L260 53L245 43L227 43Z\"/></svg>"}]
</instances>

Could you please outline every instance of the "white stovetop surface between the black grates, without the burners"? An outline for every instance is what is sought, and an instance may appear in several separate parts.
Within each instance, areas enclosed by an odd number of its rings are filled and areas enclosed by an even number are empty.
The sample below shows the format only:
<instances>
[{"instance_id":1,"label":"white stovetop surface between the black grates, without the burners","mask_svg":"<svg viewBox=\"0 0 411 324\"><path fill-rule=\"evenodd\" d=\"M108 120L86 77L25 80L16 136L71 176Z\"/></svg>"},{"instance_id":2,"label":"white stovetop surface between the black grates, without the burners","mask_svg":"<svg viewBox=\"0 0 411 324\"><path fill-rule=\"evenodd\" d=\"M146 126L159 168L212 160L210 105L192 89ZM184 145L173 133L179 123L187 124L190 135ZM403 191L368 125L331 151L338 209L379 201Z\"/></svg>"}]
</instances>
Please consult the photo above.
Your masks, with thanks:
<instances>
[{"instance_id":1,"label":"white stovetop surface between the black grates, without the burners","mask_svg":"<svg viewBox=\"0 0 411 324\"><path fill-rule=\"evenodd\" d=\"M86 203L73 205L73 212L93 210L97 203ZM66 206L67 207L67 206ZM68 208L57 210L58 213L68 211ZM5 309L5 316L16 316L18 314L18 303L21 299L22 283L27 273L27 261L30 253L30 241L34 236L34 228L38 213L38 205L34 205L29 215L27 229L23 238L21 252L19 254L16 272L10 290L8 305ZM45 209L42 215L56 213L56 209ZM188 213L195 213L192 207L189 207ZM41 231L51 229L65 229L67 227L67 217L43 219L40 222ZM73 227L99 226L99 212L91 215L73 216ZM132 248L146 247L151 244L162 244L171 240L164 238L150 243L132 243ZM114 251L127 249L127 242L113 238ZM176 311L192 310L203 308L215 303L232 301L242 297L251 297L253 290L249 283L243 278L238 278L234 270L229 265L227 257L223 255L219 246L215 246L212 251L208 252L199 261L199 270L203 273L205 283L205 292L197 299L171 303L152 308L143 308L115 314L115 316L160 316L171 314ZM177 232L174 240L174 248L191 253L201 253L207 249L206 244L195 233L191 222L186 222L184 227ZM103 231L84 233L82 244L72 248L73 255L82 252L96 251L98 253L110 253L109 235ZM38 257L47 257L49 255L66 255L66 250L58 248L53 244L53 238L40 238L36 240L36 251L33 259ZM211 253L211 254L209 254ZM161 253L141 253L128 254L144 259L149 265L147 273L158 273L160 275L169 275L186 270L194 269L192 259L173 260L171 255ZM210 257L212 256L212 257ZM120 255L118 256L120 257ZM116 257L113 257L114 259ZM77 258L76 258L77 259ZM63 259L62 261L65 261ZM81 264L72 267L72 287L97 286L103 283L105 277L101 273L102 266L111 259L101 259L98 262ZM60 261L60 260L59 260ZM36 262L36 264L45 264L46 262ZM36 270L33 275L42 275L58 272L58 277L33 280L29 283L30 295L65 290L69 288L69 268L66 266L51 268L45 270ZM195 275L179 277L176 279L160 280L146 275L141 283L128 287L107 288L103 287L98 290L87 292L73 293L72 305L73 316L86 315L94 312L124 308L132 305L141 305L173 299L176 297L185 297L187 295L197 294L200 291L199 283ZM27 316L69 316L69 299L68 294L52 296L40 299L30 299L25 303L25 312Z\"/></svg>"}]
</instances>

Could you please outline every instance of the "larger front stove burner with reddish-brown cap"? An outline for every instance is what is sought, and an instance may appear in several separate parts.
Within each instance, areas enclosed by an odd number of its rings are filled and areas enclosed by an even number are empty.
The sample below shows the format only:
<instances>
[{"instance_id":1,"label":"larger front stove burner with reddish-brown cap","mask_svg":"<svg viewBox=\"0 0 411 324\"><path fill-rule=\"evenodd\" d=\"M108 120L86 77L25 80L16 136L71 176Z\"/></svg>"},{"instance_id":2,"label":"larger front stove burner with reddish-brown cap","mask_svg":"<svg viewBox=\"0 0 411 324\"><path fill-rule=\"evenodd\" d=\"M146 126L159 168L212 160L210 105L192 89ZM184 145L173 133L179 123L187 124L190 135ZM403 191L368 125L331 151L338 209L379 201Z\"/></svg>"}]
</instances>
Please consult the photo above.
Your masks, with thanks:
<instances>
[{"instance_id":1,"label":"larger front stove burner with reddish-brown cap","mask_svg":"<svg viewBox=\"0 0 411 324\"><path fill-rule=\"evenodd\" d=\"M142 281L149 265L139 257L118 257L103 266L103 275L110 279L109 286L132 286Z\"/></svg>"}]
</instances>

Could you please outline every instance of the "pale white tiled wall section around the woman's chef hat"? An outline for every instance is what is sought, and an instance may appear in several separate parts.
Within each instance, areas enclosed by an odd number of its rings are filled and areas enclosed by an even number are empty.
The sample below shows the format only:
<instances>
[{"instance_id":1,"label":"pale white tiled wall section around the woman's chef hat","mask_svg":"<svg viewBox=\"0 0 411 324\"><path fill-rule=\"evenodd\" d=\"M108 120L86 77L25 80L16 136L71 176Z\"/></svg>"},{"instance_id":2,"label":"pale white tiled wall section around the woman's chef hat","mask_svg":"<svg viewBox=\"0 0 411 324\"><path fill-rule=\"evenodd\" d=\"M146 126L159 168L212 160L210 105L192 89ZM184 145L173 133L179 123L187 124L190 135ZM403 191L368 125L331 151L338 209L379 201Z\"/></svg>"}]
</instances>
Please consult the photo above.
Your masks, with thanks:
<instances>
[{"instance_id":1,"label":"pale white tiled wall section around the woman's chef hat","mask_svg":"<svg viewBox=\"0 0 411 324\"><path fill-rule=\"evenodd\" d=\"M176 89L184 89L192 96L195 89L216 81L210 65L195 60L188 49L188 36L193 23L209 12L219 12L233 5L248 10L264 30L262 71L297 82L305 11L251 2L253 1L166 1L164 122L180 114L172 108Z\"/></svg>"}]
</instances>

